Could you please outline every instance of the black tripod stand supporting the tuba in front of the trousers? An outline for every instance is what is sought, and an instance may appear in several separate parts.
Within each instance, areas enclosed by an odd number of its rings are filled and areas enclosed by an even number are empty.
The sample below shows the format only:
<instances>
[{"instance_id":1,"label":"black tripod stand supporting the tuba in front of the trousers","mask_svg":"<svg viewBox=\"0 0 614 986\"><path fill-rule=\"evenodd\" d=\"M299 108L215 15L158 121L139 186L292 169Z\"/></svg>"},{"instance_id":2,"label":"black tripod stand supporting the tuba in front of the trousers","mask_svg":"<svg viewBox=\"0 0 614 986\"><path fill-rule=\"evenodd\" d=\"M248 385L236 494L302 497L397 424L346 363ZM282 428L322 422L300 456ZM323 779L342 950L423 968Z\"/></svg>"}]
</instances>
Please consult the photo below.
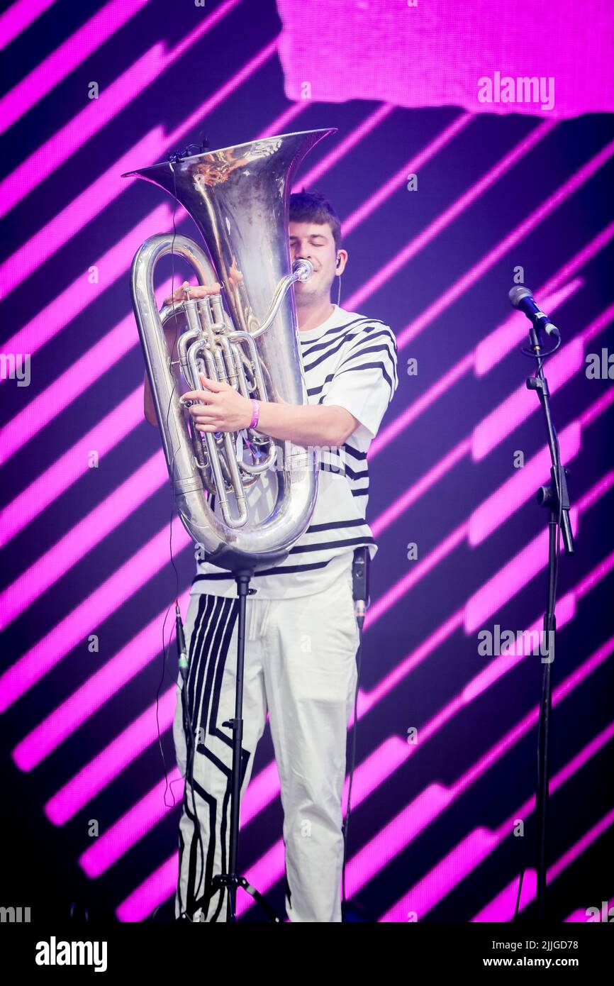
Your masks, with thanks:
<instances>
[{"instance_id":1,"label":"black tripod stand supporting the tuba in front of the trousers","mask_svg":"<svg viewBox=\"0 0 614 986\"><path fill-rule=\"evenodd\" d=\"M255 902L261 907L267 918L272 924L281 924L281 919L277 916L271 905L265 900L263 895L251 886L251 884L237 872L239 859L239 807L240 807L240 788L241 788L241 742L243 737L243 666L245 657L245 610L247 595L253 590L249 589L249 581L253 572L249 569L240 569L233 573L237 583L237 594L239 597L239 629L237 640L237 689L235 697L235 718L223 723L233 730L233 766L231 769L231 840L229 854L229 872L218 874L213 878L211 886L205 890L194 904L193 912L200 907L208 904L210 899L218 891L224 893L225 887L229 892L229 906L227 907L227 922L237 921L237 888L242 886L243 890L250 893Z\"/></svg>"}]
</instances>

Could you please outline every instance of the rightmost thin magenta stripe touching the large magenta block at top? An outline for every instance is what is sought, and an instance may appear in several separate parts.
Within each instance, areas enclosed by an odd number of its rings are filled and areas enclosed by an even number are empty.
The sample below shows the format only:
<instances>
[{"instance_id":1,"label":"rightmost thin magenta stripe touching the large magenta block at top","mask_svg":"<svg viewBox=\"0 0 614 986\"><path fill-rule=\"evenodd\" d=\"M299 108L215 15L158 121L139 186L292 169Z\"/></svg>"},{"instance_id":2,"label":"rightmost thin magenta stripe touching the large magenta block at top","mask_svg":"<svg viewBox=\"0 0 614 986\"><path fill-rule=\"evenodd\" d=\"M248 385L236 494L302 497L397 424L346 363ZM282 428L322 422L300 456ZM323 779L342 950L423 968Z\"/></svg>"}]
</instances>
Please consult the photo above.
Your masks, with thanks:
<instances>
[{"instance_id":1,"label":"rightmost thin magenta stripe touching the large magenta block at top","mask_svg":"<svg viewBox=\"0 0 614 986\"><path fill-rule=\"evenodd\" d=\"M491 185L506 174L520 158L528 154L540 140L542 140L556 126L553 120L546 120L536 126L527 137L521 140L512 151L506 154L486 175L482 176L475 184L471 185L468 191L464 192L447 209L434 219L432 223L422 230L418 236L414 237L406 246L398 251L387 263L384 263L365 284L362 284L358 291L348 298L346 307L350 312L358 312L360 306L371 298L391 277L394 276L409 260L420 252L425 246L430 244L442 230L454 221L465 211L480 195L484 194ZM404 337L403 330L400 338Z\"/></svg>"}]
</instances>

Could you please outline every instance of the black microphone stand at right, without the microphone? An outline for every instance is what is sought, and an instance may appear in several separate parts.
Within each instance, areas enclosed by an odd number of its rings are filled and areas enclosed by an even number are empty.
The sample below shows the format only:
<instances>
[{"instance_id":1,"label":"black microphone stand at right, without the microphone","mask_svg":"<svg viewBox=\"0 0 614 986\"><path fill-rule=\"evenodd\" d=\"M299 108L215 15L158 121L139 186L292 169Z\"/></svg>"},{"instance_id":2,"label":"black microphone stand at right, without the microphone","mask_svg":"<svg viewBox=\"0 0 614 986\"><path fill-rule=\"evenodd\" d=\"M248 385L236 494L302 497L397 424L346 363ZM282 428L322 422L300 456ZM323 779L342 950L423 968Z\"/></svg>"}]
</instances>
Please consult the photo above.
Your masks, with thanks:
<instances>
[{"instance_id":1,"label":"black microphone stand at right, without the microphone","mask_svg":"<svg viewBox=\"0 0 614 986\"><path fill-rule=\"evenodd\" d=\"M554 660L554 648L551 646L552 637L556 631L555 603L557 593L558 562L560 534L563 535L565 553L576 553L574 534L570 523L570 500L567 488L568 470L561 462L559 439L555 431L550 409L550 391L548 381L544 376L543 361L552 355L561 345L558 344L550 352L544 353L539 343L537 332L533 326L529 331L530 350L523 349L527 356L537 359L537 370L533 377L528 377L526 387L535 390L544 412L546 437L552 466L551 481L542 486L537 493L537 503L548 510L548 601L544 614L544 634L548 642L548 658L543 661L541 696L539 703L539 720L537 727L537 792L535 797L535 813L537 816L537 920L543 921L546 912L546 851L548 844L548 799L550 785L550 721L552 718L552 677L551 664ZM541 648L540 648L541 652Z\"/></svg>"}]
</instances>

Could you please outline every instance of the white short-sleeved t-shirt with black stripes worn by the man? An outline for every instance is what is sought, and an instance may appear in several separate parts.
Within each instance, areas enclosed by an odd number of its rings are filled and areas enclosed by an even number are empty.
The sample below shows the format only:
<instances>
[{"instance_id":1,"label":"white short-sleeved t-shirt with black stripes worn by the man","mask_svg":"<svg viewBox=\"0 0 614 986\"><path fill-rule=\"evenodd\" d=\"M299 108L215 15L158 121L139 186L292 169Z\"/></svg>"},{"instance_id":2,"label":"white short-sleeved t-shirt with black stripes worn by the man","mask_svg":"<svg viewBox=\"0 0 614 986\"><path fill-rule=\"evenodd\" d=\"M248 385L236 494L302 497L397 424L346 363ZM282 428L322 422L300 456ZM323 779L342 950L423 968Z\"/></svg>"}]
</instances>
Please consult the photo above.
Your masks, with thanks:
<instances>
[{"instance_id":1,"label":"white short-sleeved t-shirt with black stripes worn by the man","mask_svg":"<svg viewBox=\"0 0 614 986\"><path fill-rule=\"evenodd\" d=\"M351 568L356 547L368 545L372 560L377 550L366 521L367 452L398 387L396 340L382 321L337 305L321 325L299 330L299 340L308 403L345 407L360 425L343 447L317 452L319 488L311 523L284 562L254 573L250 582L256 590L254 599L291 599L324 592ZM266 520L275 505L274 472L247 491L250 522ZM234 497L229 499L234 509ZM219 516L215 502L214 511ZM191 594L235 599L233 576L206 559L198 560L203 558L202 548L196 549L196 558Z\"/></svg>"}]
</instances>

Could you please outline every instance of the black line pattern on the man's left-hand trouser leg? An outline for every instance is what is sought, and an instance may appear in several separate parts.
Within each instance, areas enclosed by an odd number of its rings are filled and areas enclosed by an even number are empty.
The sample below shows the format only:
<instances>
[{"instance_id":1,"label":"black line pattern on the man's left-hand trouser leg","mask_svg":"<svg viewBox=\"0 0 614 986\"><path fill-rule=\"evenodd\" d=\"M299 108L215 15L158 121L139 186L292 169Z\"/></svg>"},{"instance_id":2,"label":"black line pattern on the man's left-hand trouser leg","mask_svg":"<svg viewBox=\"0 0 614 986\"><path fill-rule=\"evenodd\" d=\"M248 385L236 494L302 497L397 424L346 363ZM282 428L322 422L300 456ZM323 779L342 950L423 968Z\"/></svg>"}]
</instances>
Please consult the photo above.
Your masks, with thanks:
<instances>
[{"instance_id":1,"label":"black line pattern on the man's left-hand trouser leg","mask_svg":"<svg viewBox=\"0 0 614 986\"><path fill-rule=\"evenodd\" d=\"M197 743L196 752L207 757L207 759L210 760L211 763L213 763L226 776L226 790L224 792L224 799L222 803L220 825L222 851L221 865L223 871L226 871L228 866L226 841L228 824L230 822L229 806L231 800L231 769L207 748L207 738L216 737L218 740L226 743L232 751L232 733L229 736L227 733L223 733L219 730L217 720L226 661L230 652L231 640L238 616L239 599L226 599L223 597L208 596L207 594L201 595L198 600L198 611L194 621L194 628L190 635L188 651L189 669L187 680L185 682L188 715L192 730L191 735L192 737L195 737L197 729L198 732L202 729L205 738L204 743ZM209 712L210 704L211 711ZM231 716L232 715L234 715L234 702ZM198 726L196 726L197 720ZM241 747L241 787L242 780L245 776L247 763L249 761L249 756L249 751ZM213 866L216 848L216 818L219 806L217 799L209 792L205 791L201 785L193 779L193 777L192 784L194 792L207 805L207 810L209 811L210 840L209 845L205 847L206 862L204 882L202 880L200 882L200 892L202 895L202 893L204 893L204 888L206 889L211 885L211 881L214 876ZM200 845L198 839L197 819L191 810L191 793L188 797L187 787L188 786L186 784L183 806L185 813L190 818L193 826L192 837L189 845L187 880L188 900L186 902L187 910L188 912L191 912L195 909L194 904L196 903L194 893L196 890L196 866L198 856L200 854ZM182 855L183 853L181 852L179 856L179 867L181 866ZM223 905L223 901L224 894L220 893L214 920L217 920L218 914Z\"/></svg>"}]
</instances>

